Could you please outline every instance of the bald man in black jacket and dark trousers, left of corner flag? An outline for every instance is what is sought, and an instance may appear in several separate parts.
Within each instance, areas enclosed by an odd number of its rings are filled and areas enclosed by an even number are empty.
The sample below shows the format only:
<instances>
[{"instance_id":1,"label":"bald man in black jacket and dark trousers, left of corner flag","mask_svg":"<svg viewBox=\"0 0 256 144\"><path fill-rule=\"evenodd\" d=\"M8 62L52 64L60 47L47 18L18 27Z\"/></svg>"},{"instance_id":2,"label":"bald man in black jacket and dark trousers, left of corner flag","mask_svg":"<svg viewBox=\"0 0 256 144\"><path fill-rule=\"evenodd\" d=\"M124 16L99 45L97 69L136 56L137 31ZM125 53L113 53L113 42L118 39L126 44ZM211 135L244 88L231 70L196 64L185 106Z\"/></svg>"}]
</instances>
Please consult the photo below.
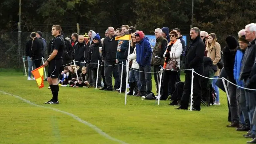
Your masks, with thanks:
<instances>
[{"instance_id":1,"label":"bald man in black jacket and dark trousers, left of corner flag","mask_svg":"<svg viewBox=\"0 0 256 144\"><path fill-rule=\"evenodd\" d=\"M108 33L109 36L104 39L102 45L102 58L106 66L104 74L107 88L105 90L113 91L112 72L117 67L115 64L118 40L115 40L115 29L113 27L108 28Z\"/></svg>"}]
</instances>

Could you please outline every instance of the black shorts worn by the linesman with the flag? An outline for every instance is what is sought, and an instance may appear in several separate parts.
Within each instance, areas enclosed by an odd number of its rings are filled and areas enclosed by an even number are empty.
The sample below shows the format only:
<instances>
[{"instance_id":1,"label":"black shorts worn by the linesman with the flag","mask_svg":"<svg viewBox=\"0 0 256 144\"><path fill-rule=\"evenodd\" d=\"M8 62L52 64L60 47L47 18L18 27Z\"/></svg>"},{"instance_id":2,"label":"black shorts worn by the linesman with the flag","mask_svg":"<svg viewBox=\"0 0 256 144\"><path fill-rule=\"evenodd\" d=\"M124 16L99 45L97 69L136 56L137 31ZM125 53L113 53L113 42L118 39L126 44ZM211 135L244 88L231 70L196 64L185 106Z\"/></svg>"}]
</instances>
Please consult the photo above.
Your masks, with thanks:
<instances>
[{"instance_id":1,"label":"black shorts worn by the linesman with the flag","mask_svg":"<svg viewBox=\"0 0 256 144\"><path fill-rule=\"evenodd\" d=\"M60 74L61 67L62 67L62 63L63 63L62 59L51 60L49 62L49 67L48 67L48 77L58 78L59 74Z\"/></svg>"}]
</instances>

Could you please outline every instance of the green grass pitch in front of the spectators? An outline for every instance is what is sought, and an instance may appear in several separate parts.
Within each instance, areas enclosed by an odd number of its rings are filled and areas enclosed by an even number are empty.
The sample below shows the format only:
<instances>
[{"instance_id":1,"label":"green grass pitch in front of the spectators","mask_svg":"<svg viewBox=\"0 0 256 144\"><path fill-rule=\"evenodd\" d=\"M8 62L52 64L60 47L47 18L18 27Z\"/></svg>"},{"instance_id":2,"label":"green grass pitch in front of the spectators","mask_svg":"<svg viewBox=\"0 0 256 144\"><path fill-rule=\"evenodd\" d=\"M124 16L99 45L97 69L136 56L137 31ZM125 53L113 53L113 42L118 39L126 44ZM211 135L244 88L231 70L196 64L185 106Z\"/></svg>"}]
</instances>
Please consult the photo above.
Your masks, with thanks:
<instances>
[{"instance_id":1,"label":"green grass pitch in front of the spectators","mask_svg":"<svg viewBox=\"0 0 256 144\"><path fill-rule=\"evenodd\" d=\"M60 87L59 105L45 105L51 98L47 82L38 89L35 81L26 79L22 73L0 72L0 144L240 144L249 140L242 137L244 132L226 127L227 100L222 91L221 105L202 106L200 112L174 110L169 101L158 106L134 96L128 96L125 106L124 94L71 87Z\"/></svg>"}]
</instances>

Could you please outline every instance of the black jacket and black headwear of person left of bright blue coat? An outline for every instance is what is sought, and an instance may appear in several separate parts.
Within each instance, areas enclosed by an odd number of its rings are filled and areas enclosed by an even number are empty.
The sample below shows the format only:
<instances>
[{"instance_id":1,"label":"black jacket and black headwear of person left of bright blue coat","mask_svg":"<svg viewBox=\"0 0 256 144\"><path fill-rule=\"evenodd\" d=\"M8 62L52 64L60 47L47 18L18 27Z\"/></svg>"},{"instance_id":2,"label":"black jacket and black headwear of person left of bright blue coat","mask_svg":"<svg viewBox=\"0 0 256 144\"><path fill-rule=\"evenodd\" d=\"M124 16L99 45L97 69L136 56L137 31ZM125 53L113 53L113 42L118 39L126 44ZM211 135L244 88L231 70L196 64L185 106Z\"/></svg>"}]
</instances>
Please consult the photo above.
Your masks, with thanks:
<instances>
[{"instance_id":1,"label":"black jacket and black headwear of person left of bright blue coat","mask_svg":"<svg viewBox=\"0 0 256 144\"><path fill-rule=\"evenodd\" d=\"M235 64L235 56L238 42L235 37L228 36L226 38L227 46L223 48L223 63L224 63L224 69L227 72L227 79L233 83L236 83L234 79L234 64Z\"/></svg>"}]
</instances>

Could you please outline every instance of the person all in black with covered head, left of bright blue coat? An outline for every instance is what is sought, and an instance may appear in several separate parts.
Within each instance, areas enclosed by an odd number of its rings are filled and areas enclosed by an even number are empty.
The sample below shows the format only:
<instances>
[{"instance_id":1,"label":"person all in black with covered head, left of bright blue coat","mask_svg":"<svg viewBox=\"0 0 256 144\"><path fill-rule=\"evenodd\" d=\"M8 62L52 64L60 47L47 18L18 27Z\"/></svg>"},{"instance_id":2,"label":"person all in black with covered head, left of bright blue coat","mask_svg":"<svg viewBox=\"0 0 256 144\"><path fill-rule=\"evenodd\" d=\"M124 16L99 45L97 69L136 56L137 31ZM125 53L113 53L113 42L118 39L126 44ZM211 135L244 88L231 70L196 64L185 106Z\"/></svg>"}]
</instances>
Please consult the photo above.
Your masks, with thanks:
<instances>
[{"instance_id":1,"label":"person all in black with covered head, left of bright blue coat","mask_svg":"<svg viewBox=\"0 0 256 144\"><path fill-rule=\"evenodd\" d=\"M223 63L224 69L227 72L227 79L232 83L236 84L234 79L234 64L235 56L237 51L238 42L235 37L228 36L226 38L227 46L223 49ZM236 99L236 86L228 83L228 93L229 93L229 107L231 114L231 124L227 127L238 127L240 125L239 115L238 115L238 103Z\"/></svg>"}]
</instances>

